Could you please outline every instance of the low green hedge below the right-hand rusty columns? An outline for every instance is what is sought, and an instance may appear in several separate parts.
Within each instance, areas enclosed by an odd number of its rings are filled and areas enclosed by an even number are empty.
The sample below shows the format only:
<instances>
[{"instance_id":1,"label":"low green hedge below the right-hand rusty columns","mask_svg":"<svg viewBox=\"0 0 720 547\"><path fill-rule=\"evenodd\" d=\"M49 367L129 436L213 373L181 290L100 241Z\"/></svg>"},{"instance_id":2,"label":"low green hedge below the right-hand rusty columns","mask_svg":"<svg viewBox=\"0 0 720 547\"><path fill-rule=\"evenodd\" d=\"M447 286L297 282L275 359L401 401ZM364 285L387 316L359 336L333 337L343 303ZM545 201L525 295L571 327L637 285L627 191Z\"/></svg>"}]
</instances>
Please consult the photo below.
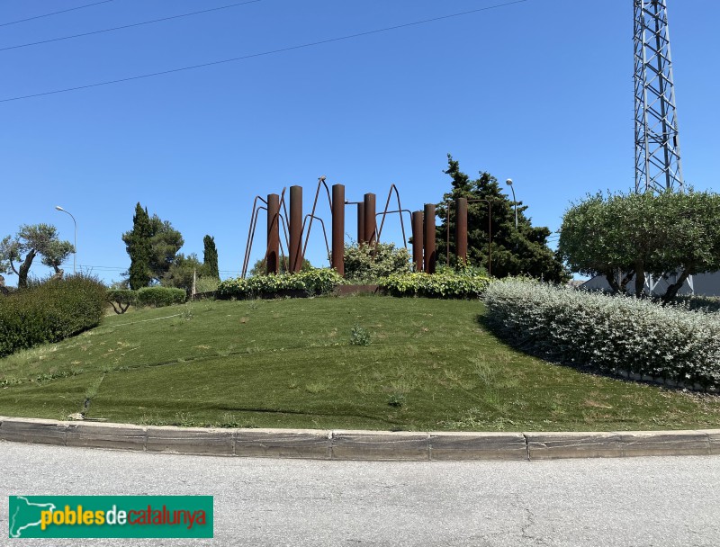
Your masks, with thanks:
<instances>
[{"instance_id":1,"label":"low green hedge below the right-hand rusty columns","mask_svg":"<svg viewBox=\"0 0 720 547\"><path fill-rule=\"evenodd\" d=\"M478 298L489 282L474 273L399 273L379 280L378 287L392 296L467 299Z\"/></svg>"}]
</instances>

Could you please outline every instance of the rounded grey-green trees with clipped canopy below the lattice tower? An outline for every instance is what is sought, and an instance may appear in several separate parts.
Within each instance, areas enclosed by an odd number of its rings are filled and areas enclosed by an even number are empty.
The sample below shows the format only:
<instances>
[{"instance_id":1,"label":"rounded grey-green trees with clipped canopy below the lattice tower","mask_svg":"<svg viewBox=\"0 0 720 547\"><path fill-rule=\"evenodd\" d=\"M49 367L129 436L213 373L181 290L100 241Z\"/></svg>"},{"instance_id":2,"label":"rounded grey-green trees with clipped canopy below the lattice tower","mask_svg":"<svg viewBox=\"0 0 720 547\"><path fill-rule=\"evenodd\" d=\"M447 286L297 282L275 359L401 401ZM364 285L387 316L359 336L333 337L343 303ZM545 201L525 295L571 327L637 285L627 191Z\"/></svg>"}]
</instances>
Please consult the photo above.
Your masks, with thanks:
<instances>
[{"instance_id":1,"label":"rounded grey-green trees with clipped canopy below the lattice tower","mask_svg":"<svg viewBox=\"0 0 720 547\"><path fill-rule=\"evenodd\" d=\"M558 252L573 272L603 275L615 292L635 277L641 296L646 273L673 275L662 295L670 301L690 275L720 269L720 194L590 195L565 212Z\"/></svg>"}]
</instances>

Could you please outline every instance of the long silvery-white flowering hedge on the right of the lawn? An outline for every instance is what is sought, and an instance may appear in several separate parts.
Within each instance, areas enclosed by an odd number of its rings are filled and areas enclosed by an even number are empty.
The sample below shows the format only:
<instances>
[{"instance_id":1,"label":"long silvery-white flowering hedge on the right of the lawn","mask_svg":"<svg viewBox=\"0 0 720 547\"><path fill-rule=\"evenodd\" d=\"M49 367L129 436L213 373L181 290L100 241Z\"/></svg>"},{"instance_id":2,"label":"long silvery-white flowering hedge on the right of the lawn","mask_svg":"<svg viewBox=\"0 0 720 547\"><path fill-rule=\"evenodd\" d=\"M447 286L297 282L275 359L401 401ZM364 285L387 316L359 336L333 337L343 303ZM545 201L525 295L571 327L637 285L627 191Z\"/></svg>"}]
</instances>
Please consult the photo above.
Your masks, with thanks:
<instances>
[{"instance_id":1,"label":"long silvery-white flowering hedge on the right of the lawn","mask_svg":"<svg viewBox=\"0 0 720 547\"><path fill-rule=\"evenodd\" d=\"M482 295L496 332L528 353L602 372L720 384L720 314L504 279Z\"/></svg>"}]
</instances>

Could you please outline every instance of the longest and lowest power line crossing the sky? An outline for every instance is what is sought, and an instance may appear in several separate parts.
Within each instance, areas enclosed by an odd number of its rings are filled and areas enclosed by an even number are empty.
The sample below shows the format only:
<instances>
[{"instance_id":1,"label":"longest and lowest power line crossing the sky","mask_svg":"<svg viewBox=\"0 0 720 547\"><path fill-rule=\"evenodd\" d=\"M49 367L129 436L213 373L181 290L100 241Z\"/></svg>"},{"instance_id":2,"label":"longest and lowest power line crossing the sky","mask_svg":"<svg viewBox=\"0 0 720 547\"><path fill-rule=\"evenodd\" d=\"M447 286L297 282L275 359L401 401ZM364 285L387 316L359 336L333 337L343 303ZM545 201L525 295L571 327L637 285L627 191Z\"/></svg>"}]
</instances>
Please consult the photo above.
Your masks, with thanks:
<instances>
[{"instance_id":1,"label":"longest and lowest power line crossing the sky","mask_svg":"<svg viewBox=\"0 0 720 547\"><path fill-rule=\"evenodd\" d=\"M268 55L275 55L277 53L284 53L286 51L293 51L294 49L305 49L305 48L311 48L314 46L320 46L323 44L329 44L336 41L342 41L342 40L351 40L354 38L360 38L363 36L370 36L371 34L379 34L381 32L388 32L388 31L397 31L399 29L405 29L411 26L416 26L420 24L425 24L428 22L437 22L437 21L443 21L446 19L452 19L454 17L461 17L463 15L470 15L471 13L478 13L478 12L485 12L492 9L497 9L500 7L506 7L508 5L512 4L522 4L524 2L528 2L529 0L514 0L513 2L506 2L505 4L495 4L495 5L489 5L486 7L478 8L475 10L470 10L467 12L460 12L460 13L453 13L451 15L442 15L440 17L433 17L432 19L423 19L422 21L415 21L415 22L406 22L403 24L394 25L392 27L384 27L383 29L375 29L374 31L365 31L365 32L357 32L356 34L348 34L347 36L340 36L338 38L329 38L327 40L319 40L319 41L312 41L304 44L300 44L297 46L289 46L287 48L280 48L280 49L271 49L269 51L263 51L261 53L251 53L249 55L243 55L241 57L234 57L234 58L226 58L222 59L220 61L211 61L209 63L202 63L200 65L192 65L190 67L182 67L182 68L171 68L169 70L162 70L160 72L153 72L150 74L143 74L140 76L130 76L126 78L120 78L117 80L108 80L106 82L100 82L97 84L88 84L88 85L77 85L76 87L67 87L65 89L56 89L54 91L46 91L44 93L36 93L36 94L29 94L29 95L21 95L18 97L11 97L9 99L0 99L0 103L9 103L11 101L20 101L23 99L31 99L32 97L41 97L44 95L51 95L51 94L59 94L59 93L67 93L70 91L78 91L80 89L88 89L90 87L99 87L101 85L112 85L112 84L120 84L121 82L130 82L132 80L139 80L143 78L149 78L154 76L164 76L166 74L173 74L175 72L184 72L185 70L193 70L195 68L202 68L202 67L212 67L214 65L222 65L224 63L232 63L235 61L241 61L246 60L248 58L257 58L257 57L266 57Z\"/></svg>"}]
</instances>

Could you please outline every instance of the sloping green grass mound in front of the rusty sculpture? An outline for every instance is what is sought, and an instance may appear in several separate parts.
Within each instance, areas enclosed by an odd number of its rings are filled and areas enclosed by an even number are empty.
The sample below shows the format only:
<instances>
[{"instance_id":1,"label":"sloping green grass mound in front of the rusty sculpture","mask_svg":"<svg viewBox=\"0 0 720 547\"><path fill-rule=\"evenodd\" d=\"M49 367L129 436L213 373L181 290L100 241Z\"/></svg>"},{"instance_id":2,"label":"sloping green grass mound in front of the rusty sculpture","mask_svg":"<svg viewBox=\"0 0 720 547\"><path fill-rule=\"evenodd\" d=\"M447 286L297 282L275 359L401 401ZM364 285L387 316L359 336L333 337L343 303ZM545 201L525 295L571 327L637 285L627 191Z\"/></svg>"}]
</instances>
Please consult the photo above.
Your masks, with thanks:
<instances>
[{"instance_id":1,"label":"sloping green grass mound in front of the rusty sculpture","mask_svg":"<svg viewBox=\"0 0 720 547\"><path fill-rule=\"evenodd\" d=\"M483 312L379 296L135 310L1 359L0 415L64 418L87 400L87 417L154 425L720 427L718 397L545 363L488 333Z\"/></svg>"}]
</instances>

